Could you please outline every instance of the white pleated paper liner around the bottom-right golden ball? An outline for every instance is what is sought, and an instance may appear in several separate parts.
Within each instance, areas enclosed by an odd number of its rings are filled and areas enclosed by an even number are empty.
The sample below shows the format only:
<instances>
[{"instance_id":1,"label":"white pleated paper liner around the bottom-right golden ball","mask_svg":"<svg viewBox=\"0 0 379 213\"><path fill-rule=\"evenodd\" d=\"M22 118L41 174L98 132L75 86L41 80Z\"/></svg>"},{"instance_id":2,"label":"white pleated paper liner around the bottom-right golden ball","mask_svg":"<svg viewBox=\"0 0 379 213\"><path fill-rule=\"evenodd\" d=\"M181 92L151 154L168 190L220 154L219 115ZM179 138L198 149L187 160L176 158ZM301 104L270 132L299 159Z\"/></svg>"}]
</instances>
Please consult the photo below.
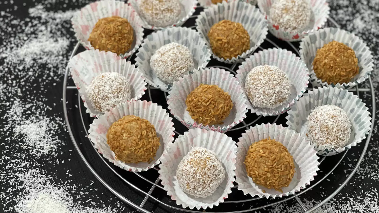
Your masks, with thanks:
<instances>
[{"instance_id":1,"label":"white pleated paper liner around the bottom-right golden ball","mask_svg":"<svg viewBox=\"0 0 379 213\"><path fill-rule=\"evenodd\" d=\"M255 184L246 172L244 161L249 146L254 142L268 138L275 139L287 147L294 160L295 174L290 185L282 188L283 193ZM236 182L238 183L238 190L243 191L244 194L266 198L288 196L304 189L317 175L316 171L319 170L318 165L320 163L317 160L319 157L316 155L316 151L307 139L294 130L282 125L261 124L246 130L238 140ZM266 192L263 193L262 190Z\"/></svg>"}]
</instances>

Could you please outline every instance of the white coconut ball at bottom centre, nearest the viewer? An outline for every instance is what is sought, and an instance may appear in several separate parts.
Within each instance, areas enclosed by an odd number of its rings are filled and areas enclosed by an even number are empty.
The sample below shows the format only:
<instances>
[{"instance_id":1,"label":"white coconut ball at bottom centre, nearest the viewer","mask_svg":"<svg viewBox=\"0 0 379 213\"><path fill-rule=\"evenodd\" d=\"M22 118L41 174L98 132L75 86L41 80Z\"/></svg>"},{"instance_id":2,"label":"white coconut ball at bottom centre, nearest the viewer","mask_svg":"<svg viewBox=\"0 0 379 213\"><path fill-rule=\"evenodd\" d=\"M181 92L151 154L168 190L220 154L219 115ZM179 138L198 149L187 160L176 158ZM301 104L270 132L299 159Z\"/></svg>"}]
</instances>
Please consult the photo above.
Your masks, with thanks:
<instances>
[{"instance_id":1,"label":"white coconut ball at bottom centre, nearest the viewer","mask_svg":"<svg viewBox=\"0 0 379 213\"><path fill-rule=\"evenodd\" d=\"M225 169L211 150L194 147L176 170L180 188L194 197L208 197L225 179Z\"/></svg>"}]
</instances>

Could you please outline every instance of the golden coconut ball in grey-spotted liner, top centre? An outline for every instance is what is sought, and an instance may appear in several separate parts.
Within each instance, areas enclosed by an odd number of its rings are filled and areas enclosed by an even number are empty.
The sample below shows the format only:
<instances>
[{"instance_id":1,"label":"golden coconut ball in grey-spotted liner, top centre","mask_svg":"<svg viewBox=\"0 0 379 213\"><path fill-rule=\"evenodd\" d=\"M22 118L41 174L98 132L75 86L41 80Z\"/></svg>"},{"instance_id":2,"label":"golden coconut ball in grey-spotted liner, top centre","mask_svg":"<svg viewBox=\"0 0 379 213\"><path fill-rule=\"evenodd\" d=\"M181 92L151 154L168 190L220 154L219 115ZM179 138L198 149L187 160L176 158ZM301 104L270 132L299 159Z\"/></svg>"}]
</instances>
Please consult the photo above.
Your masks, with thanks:
<instances>
[{"instance_id":1,"label":"golden coconut ball in grey-spotted liner, top centre","mask_svg":"<svg viewBox=\"0 0 379 213\"><path fill-rule=\"evenodd\" d=\"M219 58L232 59L250 49L249 33L241 23L222 20L208 32L213 54Z\"/></svg>"}]
</instances>

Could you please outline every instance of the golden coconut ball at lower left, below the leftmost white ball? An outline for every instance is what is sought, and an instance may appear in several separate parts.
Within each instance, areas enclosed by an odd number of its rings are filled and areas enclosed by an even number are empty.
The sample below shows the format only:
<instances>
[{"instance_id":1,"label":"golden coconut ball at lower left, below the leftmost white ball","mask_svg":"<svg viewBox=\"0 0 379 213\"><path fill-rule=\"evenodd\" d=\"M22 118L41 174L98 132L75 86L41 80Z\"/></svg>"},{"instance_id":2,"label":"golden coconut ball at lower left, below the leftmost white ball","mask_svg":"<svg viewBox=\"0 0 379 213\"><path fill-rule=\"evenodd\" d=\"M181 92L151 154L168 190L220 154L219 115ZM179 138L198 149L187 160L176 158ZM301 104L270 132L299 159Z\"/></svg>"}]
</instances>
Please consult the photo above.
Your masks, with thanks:
<instances>
[{"instance_id":1,"label":"golden coconut ball at lower left, below the leftmost white ball","mask_svg":"<svg viewBox=\"0 0 379 213\"><path fill-rule=\"evenodd\" d=\"M154 125L134 115L114 122L106 139L117 160L125 163L150 162L160 146Z\"/></svg>"}]
</instances>

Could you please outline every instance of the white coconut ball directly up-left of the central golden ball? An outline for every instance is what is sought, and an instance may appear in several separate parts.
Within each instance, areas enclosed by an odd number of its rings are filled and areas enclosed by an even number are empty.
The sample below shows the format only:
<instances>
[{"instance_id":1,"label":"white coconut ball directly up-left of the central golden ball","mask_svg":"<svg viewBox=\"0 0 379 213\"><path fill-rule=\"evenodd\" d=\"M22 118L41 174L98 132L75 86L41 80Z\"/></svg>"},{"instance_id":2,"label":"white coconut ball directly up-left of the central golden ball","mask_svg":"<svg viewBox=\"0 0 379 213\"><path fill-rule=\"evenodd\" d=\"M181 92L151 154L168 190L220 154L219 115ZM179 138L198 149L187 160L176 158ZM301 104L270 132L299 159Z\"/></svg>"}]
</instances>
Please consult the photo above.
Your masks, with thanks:
<instances>
[{"instance_id":1,"label":"white coconut ball directly up-left of the central golden ball","mask_svg":"<svg viewBox=\"0 0 379 213\"><path fill-rule=\"evenodd\" d=\"M194 63L188 47L169 43L159 48L151 56L150 67L158 78L173 83L192 71Z\"/></svg>"}]
</instances>

